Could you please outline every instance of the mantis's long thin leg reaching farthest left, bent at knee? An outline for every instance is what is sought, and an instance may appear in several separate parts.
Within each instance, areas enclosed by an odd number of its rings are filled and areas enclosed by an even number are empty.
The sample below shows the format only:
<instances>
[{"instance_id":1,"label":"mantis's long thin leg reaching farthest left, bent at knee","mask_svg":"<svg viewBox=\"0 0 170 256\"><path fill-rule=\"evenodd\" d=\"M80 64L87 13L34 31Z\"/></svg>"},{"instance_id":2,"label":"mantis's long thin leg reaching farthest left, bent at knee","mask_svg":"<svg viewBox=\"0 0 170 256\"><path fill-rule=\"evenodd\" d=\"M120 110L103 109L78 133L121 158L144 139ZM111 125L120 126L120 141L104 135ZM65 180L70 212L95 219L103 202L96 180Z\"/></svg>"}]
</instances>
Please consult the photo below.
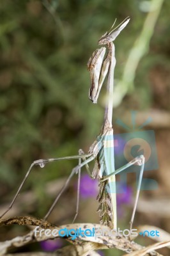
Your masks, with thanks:
<instances>
[{"instance_id":1,"label":"mantis's long thin leg reaching farthest left, bent at knee","mask_svg":"<svg viewBox=\"0 0 170 256\"><path fill-rule=\"evenodd\" d=\"M17 196L20 193L20 190L22 189L22 186L24 185L24 183L26 182L27 177L29 176L29 173L31 172L31 170L33 169L33 166L35 165L40 165L40 167L44 167L45 164L47 163L51 163L54 161L59 161L59 160L71 160L71 159L79 159L79 158L83 158L83 157L90 157L91 154L85 154L84 156L82 155L77 155L77 156L66 156L66 157L58 157L58 158L49 158L49 159L39 159L34 161L33 163L31 163L31 166L29 167L29 169L27 170L26 176L24 177L24 179L22 180L19 189L17 190L17 193L15 194L15 196L13 197L13 200L11 202L11 204L9 205L9 207L6 209L6 211L3 212L3 214L1 214L0 219L8 212L10 211L10 209L12 208L12 205L14 204L15 200L17 199Z\"/></svg>"}]
</instances>

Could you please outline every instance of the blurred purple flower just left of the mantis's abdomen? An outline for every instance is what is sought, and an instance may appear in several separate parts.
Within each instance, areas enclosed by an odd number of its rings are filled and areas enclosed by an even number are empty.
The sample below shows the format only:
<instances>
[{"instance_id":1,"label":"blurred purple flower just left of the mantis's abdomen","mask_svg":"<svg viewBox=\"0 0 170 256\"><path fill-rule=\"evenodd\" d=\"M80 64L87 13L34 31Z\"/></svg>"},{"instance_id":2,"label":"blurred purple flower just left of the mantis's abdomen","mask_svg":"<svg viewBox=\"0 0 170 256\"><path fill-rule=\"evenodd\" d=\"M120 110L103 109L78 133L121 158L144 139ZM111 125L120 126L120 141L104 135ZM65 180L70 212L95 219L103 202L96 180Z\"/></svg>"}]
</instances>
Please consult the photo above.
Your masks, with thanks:
<instances>
[{"instance_id":1,"label":"blurred purple flower just left of the mantis's abdomen","mask_svg":"<svg viewBox=\"0 0 170 256\"><path fill-rule=\"evenodd\" d=\"M75 186L77 189L77 184ZM81 198L97 197L98 180L93 180L88 174L81 175L80 196Z\"/></svg>"}]
</instances>

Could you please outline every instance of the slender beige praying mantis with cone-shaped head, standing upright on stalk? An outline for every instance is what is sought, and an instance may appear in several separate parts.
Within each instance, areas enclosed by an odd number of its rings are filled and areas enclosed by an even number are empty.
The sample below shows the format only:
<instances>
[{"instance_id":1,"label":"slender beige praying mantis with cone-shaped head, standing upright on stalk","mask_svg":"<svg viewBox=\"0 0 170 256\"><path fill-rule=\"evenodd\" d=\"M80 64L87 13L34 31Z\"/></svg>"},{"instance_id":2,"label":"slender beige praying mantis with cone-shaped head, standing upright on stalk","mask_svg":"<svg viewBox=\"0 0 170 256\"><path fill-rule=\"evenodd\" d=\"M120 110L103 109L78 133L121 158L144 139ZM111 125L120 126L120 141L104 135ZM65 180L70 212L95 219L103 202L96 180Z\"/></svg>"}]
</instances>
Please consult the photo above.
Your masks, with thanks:
<instances>
[{"instance_id":1,"label":"slender beige praying mantis with cone-shaped head, standing upright on stalk","mask_svg":"<svg viewBox=\"0 0 170 256\"><path fill-rule=\"evenodd\" d=\"M89 99L93 103L97 103L97 99L100 93L100 89L102 88L102 84L104 83L105 77L108 74L107 78L107 104L105 106L105 114L104 114L104 123L102 125L102 129L100 130L100 134L97 136L97 140L89 147L88 154L84 154L82 150L79 150L79 155L75 156L65 156L59 158L50 158L50 159L39 159L34 161L29 170L27 170L26 176L22 180L22 183L17 190L17 193L13 197L11 204L8 209L1 214L0 218L6 214L6 212L10 211L12 205L14 204L17 196L20 193L20 189L26 182L26 179L33 169L33 166L39 165L41 168L45 166L45 164L53 162L53 161L61 161L68 159L79 159L79 164L73 168L70 173L68 179L66 179L65 185L59 192L59 195L56 196L53 204L51 205L49 211L45 215L44 219L47 220L50 213L54 209L56 203L59 200L59 197L62 195L63 191L65 191L70 179L76 173L79 173L78 179L78 193L77 193L77 209L75 218L78 214L79 209L79 188L80 188L80 178L81 178L81 168L86 166L86 170L91 177L91 179L98 179L99 182L99 194L97 200L99 202L98 212L100 216L100 223L102 225L107 225L110 228L117 229L117 213L116 213L116 175L129 166L133 164L137 164L140 166L140 175L139 182L137 184L137 193L135 196L134 209L132 212L132 218L130 220L130 229L132 229L132 223L134 221L135 210L137 207L137 201L139 198L139 191L141 188L141 181L143 177L144 170L144 156L135 157L132 161L125 164L118 170L114 168L114 136L112 129L112 95L113 95L113 87L114 87L114 67L116 65L115 58L115 47L113 41L120 34L121 30L127 26L129 22L129 17L123 20L119 26L114 29L110 29L109 32L106 32L100 40L98 40L99 45L107 45L108 53L106 58L105 56L105 47L101 47L93 52L93 55L88 61L88 70L91 77L91 86L89 88ZM114 24L113 24L114 26ZM112 26L112 27L113 27ZM89 170L88 163L95 160L95 165L93 168L93 172L91 173ZM109 188L109 189L108 189ZM74 218L74 220L75 220Z\"/></svg>"}]
</instances>

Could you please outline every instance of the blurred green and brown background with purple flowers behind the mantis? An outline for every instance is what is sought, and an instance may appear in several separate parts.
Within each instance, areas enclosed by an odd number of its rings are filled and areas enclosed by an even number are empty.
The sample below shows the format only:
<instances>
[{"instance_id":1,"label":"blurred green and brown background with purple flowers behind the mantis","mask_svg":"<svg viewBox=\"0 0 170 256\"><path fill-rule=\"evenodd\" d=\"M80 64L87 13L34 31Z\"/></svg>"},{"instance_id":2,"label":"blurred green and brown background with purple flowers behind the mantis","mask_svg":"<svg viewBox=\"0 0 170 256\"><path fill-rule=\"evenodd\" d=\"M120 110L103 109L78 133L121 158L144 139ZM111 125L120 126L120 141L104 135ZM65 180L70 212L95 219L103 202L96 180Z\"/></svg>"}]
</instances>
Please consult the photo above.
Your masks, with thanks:
<instances>
[{"instance_id":1,"label":"blurred green and brown background with purple flowers behind the mantis","mask_svg":"<svg viewBox=\"0 0 170 256\"><path fill-rule=\"evenodd\" d=\"M105 85L98 104L88 99L87 63L98 39L127 16L130 22L116 38L113 109L114 133L125 131L118 118L132 127L148 118L143 130L153 130L158 170L144 172L158 188L141 191L134 227L155 225L170 230L170 84L169 10L163 0L6 0L0 6L0 204L10 204L30 164L36 159L88 152L104 118ZM137 128L136 128L137 130ZM134 131L134 130L133 130ZM43 218L77 160L35 166L15 205L5 217ZM93 170L93 163L90 164ZM119 177L118 177L119 179ZM72 223L77 177L60 198L49 221ZM98 183L82 170L81 201L77 223L98 223ZM118 227L128 228L135 196L135 173L128 175L118 195ZM26 234L29 227L1 227L1 241ZM161 237L160 237L161 238ZM139 243L153 243L140 237ZM16 252L51 251L62 240L32 244ZM167 249L161 250L169 255ZM105 250L101 255L123 255Z\"/></svg>"}]
</instances>

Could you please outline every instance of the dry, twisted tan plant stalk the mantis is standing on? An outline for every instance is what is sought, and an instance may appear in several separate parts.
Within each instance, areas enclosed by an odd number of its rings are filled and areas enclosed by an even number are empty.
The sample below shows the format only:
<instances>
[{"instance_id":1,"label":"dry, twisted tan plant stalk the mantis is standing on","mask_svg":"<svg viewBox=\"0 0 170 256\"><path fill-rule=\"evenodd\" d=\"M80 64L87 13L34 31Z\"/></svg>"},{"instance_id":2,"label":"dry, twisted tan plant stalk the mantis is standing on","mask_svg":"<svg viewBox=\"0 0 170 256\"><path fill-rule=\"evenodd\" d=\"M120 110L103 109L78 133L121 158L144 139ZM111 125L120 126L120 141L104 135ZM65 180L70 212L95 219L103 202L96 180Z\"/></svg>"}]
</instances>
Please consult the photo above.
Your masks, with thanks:
<instances>
[{"instance_id":1,"label":"dry, twisted tan plant stalk the mantis is standing on","mask_svg":"<svg viewBox=\"0 0 170 256\"><path fill-rule=\"evenodd\" d=\"M10 219L0 221L0 226L4 226L4 225L8 226L13 224L40 226L40 230L42 228L49 228L50 230L53 230L53 229L59 230L65 227L68 229L82 228L83 230L83 229L86 229L86 227L89 227L89 228L101 228L101 229L105 228L105 230L111 231L111 228L102 226L99 224L91 224L91 223L78 224L77 223L77 224L56 226L54 224L49 223L48 221L44 221L39 218L27 217L27 216L15 217L15 218L10 218ZM141 253L145 252L145 254L141 254L141 255L162 256L160 255L160 253L153 251L154 244L152 245L153 247L149 246L150 248L148 247L144 248L144 246L134 243L134 241L129 241L126 237L118 235L117 232L112 232L112 235L113 235L112 237L109 237L109 236L77 237L76 240L72 240L72 237L68 237L65 239L70 243L72 243L72 245L59 249L55 253L49 253L49 254L46 253L46 255L87 256L87 255L90 255L90 253L93 253L93 250L117 248L119 250L122 250L123 252L129 253L128 255L132 255L132 256L140 255L140 254L132 254L132 253L139 253L139 252ZM59 238L59 236L56 238ZM42 236L39 236L39 233L37 233L37 236L35 236L35 230L31 230L29 233L27 233L24 236L18 236L11 240L0 243L0 255L6 255L6 253L8 253L9 250L11 250L12 248L17 248L17 247L19 248L29 243L45 241L47 239L54 239L54 236L47 237L43 233L42 233ZM168 243L170 243L170 241ZM156 244L157 247L155 248L158 248L158 246L163 247L167 245L168 244L164 242L157 243ZM150 252L148 252L148 250L150 250ZM31 255L34 255L34 253L27 253L26 255L31 256Z\"/></svg>"}]
</instances>

